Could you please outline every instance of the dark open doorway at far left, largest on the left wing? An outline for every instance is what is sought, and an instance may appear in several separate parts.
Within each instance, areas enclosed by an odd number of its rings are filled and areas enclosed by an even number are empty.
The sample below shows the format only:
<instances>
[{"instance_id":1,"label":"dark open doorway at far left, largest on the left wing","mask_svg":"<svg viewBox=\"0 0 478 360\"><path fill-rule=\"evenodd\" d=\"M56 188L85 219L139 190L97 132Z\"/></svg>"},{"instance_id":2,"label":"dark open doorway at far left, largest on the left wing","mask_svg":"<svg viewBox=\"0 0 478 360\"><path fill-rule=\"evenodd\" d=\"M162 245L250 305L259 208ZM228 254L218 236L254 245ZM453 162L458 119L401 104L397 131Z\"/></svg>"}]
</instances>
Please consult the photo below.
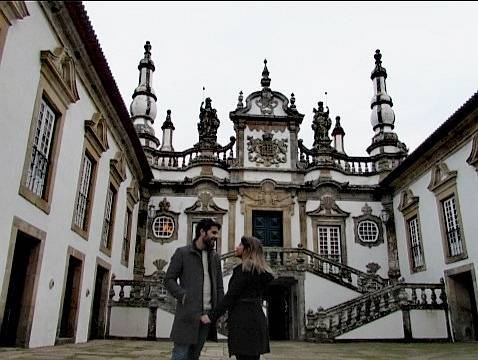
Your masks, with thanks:
<instances>
[{"instance_id":1,"label":"dark open doorway at far left, largest on the left wing","mask_svg":"<svg viewBox=\"0 0 478 360\"><path fill-rule=\"evenodd\" d=\"M35 282L41 241L18 231L14 244L0 344L26 347L35 305Z\"/></svg>"}]
</instances>

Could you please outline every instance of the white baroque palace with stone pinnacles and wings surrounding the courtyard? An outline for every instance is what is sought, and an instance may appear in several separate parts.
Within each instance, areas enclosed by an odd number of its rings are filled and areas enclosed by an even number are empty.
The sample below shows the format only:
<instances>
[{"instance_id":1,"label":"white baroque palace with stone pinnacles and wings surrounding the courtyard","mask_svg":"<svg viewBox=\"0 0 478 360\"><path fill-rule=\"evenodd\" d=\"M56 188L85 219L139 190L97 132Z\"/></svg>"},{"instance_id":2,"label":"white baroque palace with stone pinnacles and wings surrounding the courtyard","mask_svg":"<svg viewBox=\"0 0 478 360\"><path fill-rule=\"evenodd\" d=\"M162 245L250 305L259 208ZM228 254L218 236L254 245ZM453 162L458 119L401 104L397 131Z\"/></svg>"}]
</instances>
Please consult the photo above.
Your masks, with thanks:
<instances>
[{"instance_id":1,"label":"white baroque palace with stone pinnacles and wings surrounding the courtyard","mask_svg":"<svg viewBox=\"0 0 478 360\"><path fill-rule=\"evenodd\" d=\"M165 269L204 217L222 224L226 286L240 236L263 242L271 339L476 339L478 94L409 154L377 50L369 155L351 156L321 102L303 143L304 114L264 61L230 142L207 98L197 143L177 151L169 110L161 140L152 127L149 42L128 113L81 3L0 15L3 345L167 338Z\"/></svg>"}]
</instances>

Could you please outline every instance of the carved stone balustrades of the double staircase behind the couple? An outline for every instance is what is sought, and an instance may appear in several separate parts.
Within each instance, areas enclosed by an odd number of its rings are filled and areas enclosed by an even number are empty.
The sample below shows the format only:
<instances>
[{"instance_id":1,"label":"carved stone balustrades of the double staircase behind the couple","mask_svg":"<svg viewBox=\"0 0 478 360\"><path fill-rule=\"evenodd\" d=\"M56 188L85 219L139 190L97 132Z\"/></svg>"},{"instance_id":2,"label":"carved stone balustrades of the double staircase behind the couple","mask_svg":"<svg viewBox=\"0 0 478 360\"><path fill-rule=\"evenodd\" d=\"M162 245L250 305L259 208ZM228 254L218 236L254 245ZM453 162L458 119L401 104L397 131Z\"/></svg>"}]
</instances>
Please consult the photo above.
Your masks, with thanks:
<instances>
[{"instance_id":1,"label":"carved stone balustrades of the double staircase behind the couple","mask_svg":"<svg viewBox=\"0 0 478 360\"><path fill-rule=\"evenodd\" d=\"M342 334L369 324L399 310L443 309L447 301L443 281L440 284L391 283L375 273L367 273L313 251L298 248L264 248L266 260L276 275L309 272L354 290L361 295L328 309L309 310L306 314L305 340L333 341ZM234 252L221 256L223 275L232 273L237 264ZM149 308L148 338L156 334L157 309L174 314L176 300L164 286L165 272L159 270L142 280L112 280L109 296L111 307ZM224 324L218 324L220 333Z\"/></svg>"}]
</instances>

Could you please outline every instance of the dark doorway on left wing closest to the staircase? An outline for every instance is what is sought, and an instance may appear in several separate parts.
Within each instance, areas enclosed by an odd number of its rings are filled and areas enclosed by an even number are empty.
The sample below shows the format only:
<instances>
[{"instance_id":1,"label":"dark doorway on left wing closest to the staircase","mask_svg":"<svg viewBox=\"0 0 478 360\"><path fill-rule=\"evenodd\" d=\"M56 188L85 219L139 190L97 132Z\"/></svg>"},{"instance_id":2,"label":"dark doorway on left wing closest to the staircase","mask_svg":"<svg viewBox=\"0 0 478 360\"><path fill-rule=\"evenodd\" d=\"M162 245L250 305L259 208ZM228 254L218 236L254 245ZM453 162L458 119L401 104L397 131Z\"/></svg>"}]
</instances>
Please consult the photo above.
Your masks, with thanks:
<instances>
[{"instance_id":1,"label":"dark doorway on left wing closest to the staircase","mask_svg":"<svg viewBox=\"0 0 478 360\"><path fill-rule=\"evenodd\" d=\"M91 310L89 339L104 339L106 336L106 309L108 305L109 270L96 266L95 293Z\"/></svg>"}]
</instances>

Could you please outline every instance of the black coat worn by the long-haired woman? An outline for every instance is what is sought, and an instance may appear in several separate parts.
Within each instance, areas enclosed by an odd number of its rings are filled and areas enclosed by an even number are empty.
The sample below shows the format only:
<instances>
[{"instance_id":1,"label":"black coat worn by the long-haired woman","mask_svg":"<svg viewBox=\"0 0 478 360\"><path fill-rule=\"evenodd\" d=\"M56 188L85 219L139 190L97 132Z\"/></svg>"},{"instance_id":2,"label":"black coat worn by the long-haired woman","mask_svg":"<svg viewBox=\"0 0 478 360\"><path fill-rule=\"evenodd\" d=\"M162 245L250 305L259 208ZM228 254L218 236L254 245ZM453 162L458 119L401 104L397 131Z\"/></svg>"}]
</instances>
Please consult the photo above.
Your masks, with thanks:
<instances>
[{"instance_id":1,"label":"black coat worn by the long-haired woman","mask_svg":"<svg viewBox=\"0 0 478 360\"><path fill-rule=\"evenodd\" d=\"M262 310L262 293L273 279L267 272L244 272L242 265L234 268L223 301L209 313L214 324L228 311L229 356L270 352L267 319Z\"/></svg>"}]
</instances>

